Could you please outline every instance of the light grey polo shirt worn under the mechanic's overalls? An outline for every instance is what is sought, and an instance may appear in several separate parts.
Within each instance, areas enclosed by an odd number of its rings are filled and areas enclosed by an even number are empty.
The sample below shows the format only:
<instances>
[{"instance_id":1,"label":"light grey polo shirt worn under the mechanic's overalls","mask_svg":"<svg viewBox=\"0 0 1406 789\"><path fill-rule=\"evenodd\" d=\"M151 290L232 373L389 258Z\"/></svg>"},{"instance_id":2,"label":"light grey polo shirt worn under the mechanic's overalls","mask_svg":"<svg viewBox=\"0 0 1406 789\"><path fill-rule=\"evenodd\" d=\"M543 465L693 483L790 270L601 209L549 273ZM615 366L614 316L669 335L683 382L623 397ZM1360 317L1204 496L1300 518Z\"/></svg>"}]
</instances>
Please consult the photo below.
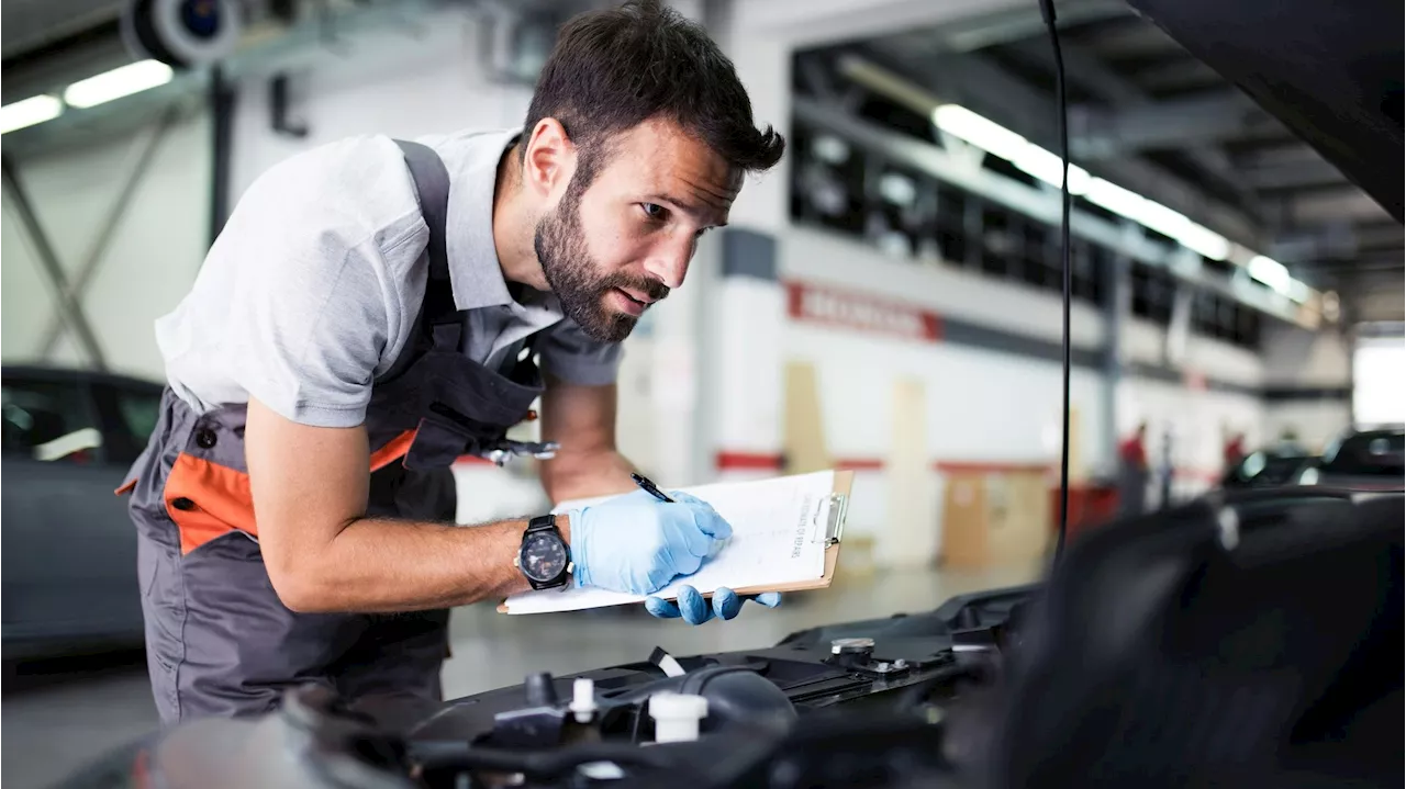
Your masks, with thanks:
<instances>
[{"instance_id":1,"label":"light grey polo shirt worn under the mechanic's overalls","mask_svg":"<svg viewBox=\"0 0 1406 789\"><path fill-rule=\"evenodd\" d=\"M541 366L567 382L616 379L557 298L508 292L494 247L498 163L517 129L423 138L450 173L447 247L464 352L495 365L544 327ZM399 147L359 136L299 153L240 197L190 293L156 321L172 389L205 413L257 397L316 427L354 427L371 383L411 337L429 274L429 229Z\"/></svg>"}]
</instances>

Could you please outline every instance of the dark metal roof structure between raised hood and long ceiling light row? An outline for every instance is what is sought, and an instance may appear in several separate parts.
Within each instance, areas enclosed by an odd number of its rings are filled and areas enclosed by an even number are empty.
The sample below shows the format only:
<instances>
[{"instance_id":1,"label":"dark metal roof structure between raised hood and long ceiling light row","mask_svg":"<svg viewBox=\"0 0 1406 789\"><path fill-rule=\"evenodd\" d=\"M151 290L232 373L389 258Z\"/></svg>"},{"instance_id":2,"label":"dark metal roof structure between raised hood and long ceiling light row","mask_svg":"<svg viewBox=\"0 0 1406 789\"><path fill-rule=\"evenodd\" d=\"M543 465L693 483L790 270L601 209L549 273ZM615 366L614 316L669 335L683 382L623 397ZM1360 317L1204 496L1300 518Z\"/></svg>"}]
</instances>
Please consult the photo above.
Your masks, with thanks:
<instances>
[{"instance_id":1,"label":"dark metal roof structure between raised hood and long ceiling light row","mask_svg":"<svg viewBox=\"0 0 1406 789\"><path fill-rule=\"evenodd\" d=\"M1400 320L1396 218L1128 3L1066 0L1059 20L1076 164L1336 292L1346 320ZM1053 55L1035 3L810 52L799 84L842 94L855 81L837 66L846 56L889 79L860 80L870 90L957 102L1057 150Z\"/></svg>"}]
</instances>

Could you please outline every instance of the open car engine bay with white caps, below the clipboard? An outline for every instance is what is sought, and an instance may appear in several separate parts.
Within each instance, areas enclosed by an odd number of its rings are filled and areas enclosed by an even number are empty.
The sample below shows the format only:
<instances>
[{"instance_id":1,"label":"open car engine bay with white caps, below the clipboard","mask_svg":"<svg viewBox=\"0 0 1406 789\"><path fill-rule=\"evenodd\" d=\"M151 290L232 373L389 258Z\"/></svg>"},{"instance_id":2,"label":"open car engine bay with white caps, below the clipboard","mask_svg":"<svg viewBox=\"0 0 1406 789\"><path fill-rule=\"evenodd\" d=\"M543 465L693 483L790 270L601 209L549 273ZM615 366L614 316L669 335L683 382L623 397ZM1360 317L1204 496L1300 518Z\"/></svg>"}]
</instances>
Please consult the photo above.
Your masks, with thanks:
<instances>
[{"instance_id":1,"label":"open car engine bay with white caps, below the clipboard","mask_svg":"<svg viewBox=\"0 0 1406 789\"><path fill-rule=\"evenodd\" d=\"M60 786L1392 786L1400 573L1399 496L1233 491L1097 529L1039 584L396 723L298 688Z\"/></svg>"}]
</instances>

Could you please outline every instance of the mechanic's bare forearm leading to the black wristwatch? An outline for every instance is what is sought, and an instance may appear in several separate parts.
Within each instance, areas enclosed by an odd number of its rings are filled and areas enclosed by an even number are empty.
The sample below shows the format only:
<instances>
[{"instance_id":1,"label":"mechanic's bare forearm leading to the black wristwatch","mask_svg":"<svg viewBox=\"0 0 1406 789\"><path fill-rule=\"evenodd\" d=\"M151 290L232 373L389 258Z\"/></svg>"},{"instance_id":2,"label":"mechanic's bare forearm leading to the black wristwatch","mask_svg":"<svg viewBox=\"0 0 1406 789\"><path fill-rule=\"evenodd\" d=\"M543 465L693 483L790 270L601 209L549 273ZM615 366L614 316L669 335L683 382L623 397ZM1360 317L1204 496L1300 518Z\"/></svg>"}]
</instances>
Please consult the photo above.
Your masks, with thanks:
<instances>
[{"instance_id":1,"label":"mechanic's bare forearm leading to the black wristwatch","mask_svg":"<svg viewBox=\"0 0 1406 789\"><path fill-rule=\"evenodd\" d=\"M569 543L569 518L557 525ZM481 526L364 518L281 573L280 597L304 612L401 612L470 605L529 590L513 557L527 521Z\"/></svg>"}]
</instances>

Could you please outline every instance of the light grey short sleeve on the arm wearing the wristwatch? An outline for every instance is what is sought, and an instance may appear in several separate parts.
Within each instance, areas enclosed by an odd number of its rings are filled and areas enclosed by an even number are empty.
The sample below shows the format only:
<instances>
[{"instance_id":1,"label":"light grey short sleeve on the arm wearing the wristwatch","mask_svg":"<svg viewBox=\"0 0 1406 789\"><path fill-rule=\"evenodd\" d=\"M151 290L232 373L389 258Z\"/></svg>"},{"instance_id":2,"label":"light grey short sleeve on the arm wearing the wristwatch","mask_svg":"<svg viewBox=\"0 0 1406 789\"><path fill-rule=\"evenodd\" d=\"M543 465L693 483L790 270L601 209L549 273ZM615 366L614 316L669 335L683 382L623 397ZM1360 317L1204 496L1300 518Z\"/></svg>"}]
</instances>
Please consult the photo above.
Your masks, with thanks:
<instances>
[{"instance_id":1,"label":"light grey short sleeve on the arm wearing the wristwatch","mask_svg":"<svg viewBox=\"0 0 1406 789\"><path fill-rule=\"evenodd\" d=\"M398 351L404 323L382 229L328 205L342 177L335 161L315 160L267 173L243 195L207 261L238 267L222 359L229 378L283 417L314 427L366 420L371 385Z\"/></svg>"}]
</instances>

